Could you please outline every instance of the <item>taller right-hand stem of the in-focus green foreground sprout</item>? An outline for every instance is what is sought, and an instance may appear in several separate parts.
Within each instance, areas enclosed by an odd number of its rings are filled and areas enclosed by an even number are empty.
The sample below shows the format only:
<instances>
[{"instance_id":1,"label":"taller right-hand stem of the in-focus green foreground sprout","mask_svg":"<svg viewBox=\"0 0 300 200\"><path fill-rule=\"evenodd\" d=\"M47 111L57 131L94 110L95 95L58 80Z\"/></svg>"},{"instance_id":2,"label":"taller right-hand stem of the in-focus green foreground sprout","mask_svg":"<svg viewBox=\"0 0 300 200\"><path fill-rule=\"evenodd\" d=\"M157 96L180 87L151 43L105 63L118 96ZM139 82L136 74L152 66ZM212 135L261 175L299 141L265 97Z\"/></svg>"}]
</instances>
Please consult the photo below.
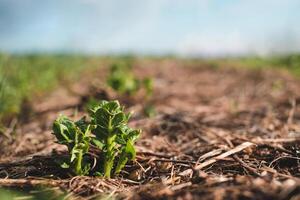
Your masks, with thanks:
<instances>
[{"instance_id":1,"label":"taller right-hand stem of the in-focus green foreground sprout","mask_svg":"<svg viewBox=\"0 0 300 200\"><path fill-rule=\"evenodd\" d=\"M103 173L109 178L112 172L118 174L127 161L135 158L133 145L141 131L128 127L130 114L124 113L118 101L102 101L92 110L91 117L96 127L93 133L103 144Z\"/></svg>"}]
</instances>

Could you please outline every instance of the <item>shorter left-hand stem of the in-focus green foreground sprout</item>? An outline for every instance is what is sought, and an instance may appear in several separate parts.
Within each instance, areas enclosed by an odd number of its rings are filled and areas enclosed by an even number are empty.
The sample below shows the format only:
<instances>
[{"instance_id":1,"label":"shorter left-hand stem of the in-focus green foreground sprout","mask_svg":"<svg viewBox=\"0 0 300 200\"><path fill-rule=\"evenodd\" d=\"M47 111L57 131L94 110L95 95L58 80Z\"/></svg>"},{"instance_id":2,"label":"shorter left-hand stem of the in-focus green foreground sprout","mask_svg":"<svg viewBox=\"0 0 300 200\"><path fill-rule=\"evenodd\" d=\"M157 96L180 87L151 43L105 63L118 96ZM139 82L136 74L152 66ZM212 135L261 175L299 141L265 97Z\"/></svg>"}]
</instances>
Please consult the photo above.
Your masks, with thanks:
<instances>
[{"instance_id":1,"label":"shorter left-hand stem of the in-focus green foreground sprout","mask_svg":"<svg viewBox=\"0 0 300 200\"><path fill-rule=\"evenodd\" d=\"M85 159L91 140L90 127L84 118L73 122L66 116L60 116L53 123L53 134L59 144L67 146L69 152L69 160L61 167L71 168L76 175L86 175L90 170L90 163Z\"/></svg>"}]
</instances>

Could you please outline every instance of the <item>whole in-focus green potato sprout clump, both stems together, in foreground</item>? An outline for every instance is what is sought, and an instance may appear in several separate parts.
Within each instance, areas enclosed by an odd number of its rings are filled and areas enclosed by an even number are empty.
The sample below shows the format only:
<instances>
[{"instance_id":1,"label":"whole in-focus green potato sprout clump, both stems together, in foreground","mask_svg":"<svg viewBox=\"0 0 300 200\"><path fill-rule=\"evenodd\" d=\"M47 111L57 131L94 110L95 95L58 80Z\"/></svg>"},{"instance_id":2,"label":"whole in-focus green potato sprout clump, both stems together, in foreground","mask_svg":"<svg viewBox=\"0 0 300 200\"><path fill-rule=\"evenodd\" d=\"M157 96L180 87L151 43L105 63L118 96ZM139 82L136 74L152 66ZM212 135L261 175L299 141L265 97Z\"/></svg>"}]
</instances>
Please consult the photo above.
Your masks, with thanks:
<instances>
[{"instance_id":1,"label":"whole in-focus green potato sprout clump, both stems together, in foreground","mask_svg":"<svg viewBox=\"0 0 300 200\"><path fill-rule=\"evenodd\" d=\"M110 178L135 158L134 143L141 130L128 127L130 114L124 112L118 101L102 101L91 109L90 118L90 122L73 122L65 116L55 120L53 134L69 151L69 160L62 167L71 168L76 175L90 174L88 161L92 159L88 151L93 144L101 152L95 174Z\"/></svg>"}]
</instances>

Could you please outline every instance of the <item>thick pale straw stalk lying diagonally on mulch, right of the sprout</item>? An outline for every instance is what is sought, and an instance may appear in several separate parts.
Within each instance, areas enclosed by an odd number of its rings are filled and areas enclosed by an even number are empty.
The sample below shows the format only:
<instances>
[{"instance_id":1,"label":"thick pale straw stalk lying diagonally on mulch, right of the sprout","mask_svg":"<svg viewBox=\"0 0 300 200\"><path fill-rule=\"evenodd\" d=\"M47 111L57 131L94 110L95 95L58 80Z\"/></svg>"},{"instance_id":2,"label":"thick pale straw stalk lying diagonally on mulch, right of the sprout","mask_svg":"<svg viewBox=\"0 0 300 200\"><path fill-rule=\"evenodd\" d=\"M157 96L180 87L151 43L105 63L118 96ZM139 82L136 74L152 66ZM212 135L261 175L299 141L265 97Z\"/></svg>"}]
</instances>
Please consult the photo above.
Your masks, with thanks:
<instances>
[{"instance_id":1,"label":"thick pale straw stalk lying diagonally on mulch, right of the sprout","mask_svg":"<svg viewBox=\"0 0 300 200\"><path fill-rule=\"evenodd\" d=\"M254 144L251 143L251 142L244 142L244 143L240 144L239 146L237 146L237 147L235 147L235 148L233 148L233 149L231 149L231 150L229 150L229 151L227 151L227 152L225 152L225 153L223 153L219 156L216 156L216 157L211 158L211 159L209 159L209 160L207 160L207 161L205 161L205 162L203 162L199 165L196 165L194 169L195 170L203 169L204 167L207 167L207 166L217 162L218 160L224 159L228 156L231 156L232 154L236 154L236 153L238 153L238 152L240 152L240 151L242 151L242 150L244 150L248 147L251 147L253 145Z\"/></svg>"}]
</instances>

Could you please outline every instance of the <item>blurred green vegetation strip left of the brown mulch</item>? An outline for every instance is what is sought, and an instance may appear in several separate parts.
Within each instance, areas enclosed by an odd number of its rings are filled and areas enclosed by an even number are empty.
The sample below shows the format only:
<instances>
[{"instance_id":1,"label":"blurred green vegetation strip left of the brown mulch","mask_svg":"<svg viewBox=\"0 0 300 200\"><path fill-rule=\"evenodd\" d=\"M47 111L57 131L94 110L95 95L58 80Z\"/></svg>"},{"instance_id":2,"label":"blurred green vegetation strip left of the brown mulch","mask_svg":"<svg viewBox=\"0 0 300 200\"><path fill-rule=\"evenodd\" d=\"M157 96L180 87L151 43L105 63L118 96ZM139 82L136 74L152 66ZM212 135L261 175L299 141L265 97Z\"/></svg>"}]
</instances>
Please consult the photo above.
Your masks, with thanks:
<instances>
[{"instance_id":1,"label":"blurred green vegetation strip left of the brown mulch","mask_svg":"<svg viewBox=\"0 0 300 200\"><path fill-rule=\"evenodd\" d=\"M79 72L95 67L95 60L100 59L71 55L0 54L0 121L19 114L24 102L53 90L61 83L76 80Z\"/></svg>"}]
</instances>

